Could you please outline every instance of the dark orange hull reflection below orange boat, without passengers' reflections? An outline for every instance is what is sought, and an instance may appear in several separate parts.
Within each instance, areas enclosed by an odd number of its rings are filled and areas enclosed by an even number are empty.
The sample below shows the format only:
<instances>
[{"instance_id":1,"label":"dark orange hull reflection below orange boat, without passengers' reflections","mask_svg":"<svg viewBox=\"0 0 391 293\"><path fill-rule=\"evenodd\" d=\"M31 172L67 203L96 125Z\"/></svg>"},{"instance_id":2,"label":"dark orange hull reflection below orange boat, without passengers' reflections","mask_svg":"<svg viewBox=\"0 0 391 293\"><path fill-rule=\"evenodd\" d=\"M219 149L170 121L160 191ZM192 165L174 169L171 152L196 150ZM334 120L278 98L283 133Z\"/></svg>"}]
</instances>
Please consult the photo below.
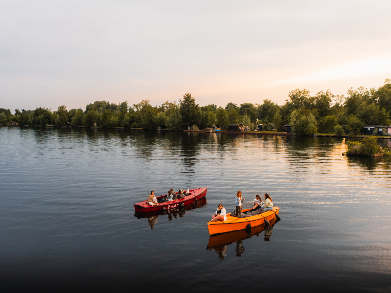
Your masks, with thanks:
<instances>
[{"instance_id":1,"label":"dark orange hull reflection below orange boat, without passengers' reflections","mask_svg":"<svg viewBox=\"0 0 391 293\"><path fill-rule=\"evenodd\" d=\"M239 240L244 240L244 239L250 238L256 234L261 233L262 231L266 230L267 228L270 228L272 225L274 225L275 222L276 222L276 218L274 218L270 221L269 227L266 227L266 224L263 223L261 225L254 227L254 228L251 228L251 230L243 229L243 230L228 232L228 233L219 234L219 235L212 235L209 237L209 242L208 242L207 248L228 245L228 244L232 244L234 242L237 242Z\"/></svg>"}]
</instances>

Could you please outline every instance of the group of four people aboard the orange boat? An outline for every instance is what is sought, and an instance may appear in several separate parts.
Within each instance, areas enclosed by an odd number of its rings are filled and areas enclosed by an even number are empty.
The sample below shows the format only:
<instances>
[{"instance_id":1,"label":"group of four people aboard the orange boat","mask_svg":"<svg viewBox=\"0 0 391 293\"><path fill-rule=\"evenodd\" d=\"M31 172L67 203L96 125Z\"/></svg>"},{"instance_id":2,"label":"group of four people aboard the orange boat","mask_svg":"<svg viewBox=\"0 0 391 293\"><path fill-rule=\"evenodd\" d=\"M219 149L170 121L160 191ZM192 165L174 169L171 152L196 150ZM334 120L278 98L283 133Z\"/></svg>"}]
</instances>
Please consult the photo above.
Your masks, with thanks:
<instances>
[{"instance_id":1,"label":"group of four people aboard the orange boat","mask_svg":"<svg viewBox=\"0 0 391 293\"><path fill-rule=\"evenodd\" d=\"M241 214L243 202L244 202L244 198L242 198L241 191L239 190L236 193L236 197L235 197L236 215L238 217ZM251 211L254 211L257 209L264 209L265 212L269 211L269 210L273 210L273 201L272 201L272 198L270 197L269 194L265 193L264 204L262 204L262 199L259 196L259 194L257 194L255 196L255 199L253 200L253 207L251 208ZM214 215L212 216L212 219L210 220L210 222L226 221L226 220L227 220L227 216L226 216L225 208L223 207L223 204L218 204L218 208L217 208L216 212L214 213Z\"/></svg>"}]
</instances>

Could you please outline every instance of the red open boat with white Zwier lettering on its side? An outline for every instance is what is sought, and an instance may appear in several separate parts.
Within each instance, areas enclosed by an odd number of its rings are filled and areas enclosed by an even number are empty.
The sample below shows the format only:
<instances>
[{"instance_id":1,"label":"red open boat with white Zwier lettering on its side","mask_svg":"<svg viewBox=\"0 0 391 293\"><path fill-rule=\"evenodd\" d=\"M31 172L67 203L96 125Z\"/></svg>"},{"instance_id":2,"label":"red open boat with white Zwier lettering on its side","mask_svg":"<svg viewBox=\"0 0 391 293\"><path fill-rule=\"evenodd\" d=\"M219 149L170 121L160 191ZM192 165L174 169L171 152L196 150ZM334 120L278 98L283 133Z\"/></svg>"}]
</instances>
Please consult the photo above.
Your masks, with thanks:
<instances>
[{"instance_id":1,"label":"red open boat with white Zwier lettering on its side","mask_svg":"<svg viewBox=\"0 0 391 293\"><path fill-rule=\"evenodd\" d=\"M190 205L194 202L197 202L201 198L205 197L207 187L198 188L198 189L190 189L190 195L185 196L185 198L171 200L165 203L160 203L158 206L151 206L148 204L148 199L143 200L139 203L134 204L134 209L139 212L150 212L157 210L166 210L166 209L175 209L175 208L183 208L186 205ZM178 192L176 192L178 194ZM167 194L156 197L157 201L161 198L166 197Z\"/></svg>"}]
</instances>

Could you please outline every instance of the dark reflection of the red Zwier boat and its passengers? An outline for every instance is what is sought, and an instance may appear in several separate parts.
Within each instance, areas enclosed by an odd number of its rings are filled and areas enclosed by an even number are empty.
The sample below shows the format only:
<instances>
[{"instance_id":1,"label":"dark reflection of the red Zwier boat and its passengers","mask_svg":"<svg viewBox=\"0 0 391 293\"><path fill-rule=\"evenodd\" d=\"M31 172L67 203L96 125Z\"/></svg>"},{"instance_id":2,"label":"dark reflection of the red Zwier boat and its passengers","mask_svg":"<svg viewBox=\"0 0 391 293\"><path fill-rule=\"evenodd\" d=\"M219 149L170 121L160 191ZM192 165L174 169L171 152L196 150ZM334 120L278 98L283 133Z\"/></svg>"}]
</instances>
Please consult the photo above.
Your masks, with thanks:
<instances>
[{"instance_id":1,"label":"dark reflection of the red Zwier boat and its passengers","mask_svg":"<svg viewBox=\"0 0 391 293\"><path fill-rule=\"evenodd\" d=\"M157 218L160 217L160 219L167 218L168 221L172 221L174 219L183 218L186 211L201 208L204 205L206 205L206 197L200 199L196 203L192 203L190 205L186 205L183 208L174 208L174 209L168 209L167 211L155 211L155 212L139 212L136 211L134 213L134 216L137 217L138 220L141 219L148 219L148 225L150 225L151 229L154 229L157 224Z\"/></svg>"}]
</instances>

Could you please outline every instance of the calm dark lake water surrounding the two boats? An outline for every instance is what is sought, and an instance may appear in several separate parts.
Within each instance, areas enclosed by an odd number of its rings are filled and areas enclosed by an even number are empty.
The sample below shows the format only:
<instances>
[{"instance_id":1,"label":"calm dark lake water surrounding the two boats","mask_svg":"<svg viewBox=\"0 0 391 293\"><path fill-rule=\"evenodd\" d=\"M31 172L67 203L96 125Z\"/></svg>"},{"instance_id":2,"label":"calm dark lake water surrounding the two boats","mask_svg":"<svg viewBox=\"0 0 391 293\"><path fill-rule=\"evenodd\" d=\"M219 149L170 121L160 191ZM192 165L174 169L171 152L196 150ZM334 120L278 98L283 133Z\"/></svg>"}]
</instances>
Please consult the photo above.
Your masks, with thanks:
<instances>
[{"instance_id":1,"label":"calm dark lake water surrounding the two boats","mask_svg":"<svg viewBox=\"0 0 391 293\"><path fill-rule=\"evenodd\" d=\"M344 139L0 127L0 143L3 292L391 291L391 160L342 156ZM197 207L135 215L151 190L200 187ZM210 239L238 190L281 220Z\"/></svg>"}]
</instances>

